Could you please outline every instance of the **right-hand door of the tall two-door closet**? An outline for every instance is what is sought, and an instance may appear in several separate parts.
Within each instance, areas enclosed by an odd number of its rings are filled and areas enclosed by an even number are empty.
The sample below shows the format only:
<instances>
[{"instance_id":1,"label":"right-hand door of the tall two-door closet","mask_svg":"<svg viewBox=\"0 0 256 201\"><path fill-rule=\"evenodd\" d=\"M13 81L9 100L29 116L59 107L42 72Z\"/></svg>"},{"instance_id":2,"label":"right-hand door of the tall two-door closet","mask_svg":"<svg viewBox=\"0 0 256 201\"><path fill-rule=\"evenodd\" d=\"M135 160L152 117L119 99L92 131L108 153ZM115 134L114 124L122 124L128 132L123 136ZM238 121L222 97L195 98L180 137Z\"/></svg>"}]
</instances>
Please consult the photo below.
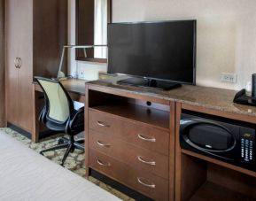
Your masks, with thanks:
<instances>
[{"instance_id":1,"label":"right-hand door of the tall two-door closet","mask_svg":"<svg viewBox=\"0 0 256 201\"><path fill-rule=\"evenodd\" d=\"M19 128L32 132L33 81L33 0L12 0L19 6L19 46L21 64L18 71ZM18 3L19 2L19 3Z\"/></svg>"}]
</instances>

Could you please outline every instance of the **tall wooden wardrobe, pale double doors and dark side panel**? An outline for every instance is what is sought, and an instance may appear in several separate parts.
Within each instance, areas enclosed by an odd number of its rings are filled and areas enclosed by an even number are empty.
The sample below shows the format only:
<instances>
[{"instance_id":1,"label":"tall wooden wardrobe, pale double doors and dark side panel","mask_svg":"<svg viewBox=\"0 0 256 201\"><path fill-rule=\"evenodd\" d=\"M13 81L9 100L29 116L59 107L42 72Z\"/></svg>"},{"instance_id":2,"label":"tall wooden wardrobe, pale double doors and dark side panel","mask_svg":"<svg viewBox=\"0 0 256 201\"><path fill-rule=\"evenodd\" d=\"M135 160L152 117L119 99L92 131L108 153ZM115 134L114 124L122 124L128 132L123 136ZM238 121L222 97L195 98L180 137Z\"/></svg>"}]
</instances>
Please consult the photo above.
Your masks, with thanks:
<instances>
[{"instance_id":1,"label":"tall wooden wardrobe, pale double doors and dark side panel","mask_svg":"<svg viewBox=\"0 0 256 201\"><path fill-rule=\"evenodd\" d=\"M67 0L6 0L5 35L7 121L31 133L33 77L57 77Z\"/></svg>"}]
</instances>

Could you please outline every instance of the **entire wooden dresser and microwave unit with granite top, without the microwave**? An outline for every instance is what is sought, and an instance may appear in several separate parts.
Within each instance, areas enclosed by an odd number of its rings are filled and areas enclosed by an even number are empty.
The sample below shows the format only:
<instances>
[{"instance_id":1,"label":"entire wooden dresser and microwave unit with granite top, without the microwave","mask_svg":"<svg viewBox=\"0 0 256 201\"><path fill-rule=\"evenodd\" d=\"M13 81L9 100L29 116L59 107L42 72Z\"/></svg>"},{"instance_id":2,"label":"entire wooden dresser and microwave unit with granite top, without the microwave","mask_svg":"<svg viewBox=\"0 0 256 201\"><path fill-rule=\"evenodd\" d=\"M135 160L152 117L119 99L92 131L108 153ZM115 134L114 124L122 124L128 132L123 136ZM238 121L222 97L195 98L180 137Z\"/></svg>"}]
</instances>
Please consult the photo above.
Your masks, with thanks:
<instances>
[{"instance_id":1,"label":"entire wooden dresser and microwave unit with granite top, without the microwave","mask_svg":"<svg viewBox=\"0 0 256 201\"><path fill-rule=\"evenodd\" d=\"M96 170L154 200L256 200L256 171L180 146L182 113L256 128L256 107L233 104L234 90L163 91L119 79L86 84L87 176Z\"/></svg>"}]
</instances>

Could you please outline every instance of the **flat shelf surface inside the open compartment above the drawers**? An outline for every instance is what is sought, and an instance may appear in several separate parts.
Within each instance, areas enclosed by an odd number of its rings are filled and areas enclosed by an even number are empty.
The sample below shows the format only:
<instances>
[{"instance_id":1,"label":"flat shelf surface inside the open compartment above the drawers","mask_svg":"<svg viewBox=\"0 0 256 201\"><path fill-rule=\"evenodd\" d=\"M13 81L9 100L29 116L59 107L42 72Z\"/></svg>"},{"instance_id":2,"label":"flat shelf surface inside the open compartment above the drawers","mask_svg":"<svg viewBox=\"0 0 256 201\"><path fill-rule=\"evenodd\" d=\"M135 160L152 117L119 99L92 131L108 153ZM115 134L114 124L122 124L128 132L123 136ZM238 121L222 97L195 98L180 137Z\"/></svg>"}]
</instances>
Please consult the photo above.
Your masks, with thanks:
<instances>
[{"instance_id":1,"label":"flat shelf surface inside the open compartment above the drawers","mask_svg":"<svg viewBox=\"0 0 256 201\"><path fill-rule=\"evenodd\" d=\"M128 120L140 121L151 126L169 131L169 112L137 104L104 104L89 108L106 112Z\"/></svg>"}]
</instances>

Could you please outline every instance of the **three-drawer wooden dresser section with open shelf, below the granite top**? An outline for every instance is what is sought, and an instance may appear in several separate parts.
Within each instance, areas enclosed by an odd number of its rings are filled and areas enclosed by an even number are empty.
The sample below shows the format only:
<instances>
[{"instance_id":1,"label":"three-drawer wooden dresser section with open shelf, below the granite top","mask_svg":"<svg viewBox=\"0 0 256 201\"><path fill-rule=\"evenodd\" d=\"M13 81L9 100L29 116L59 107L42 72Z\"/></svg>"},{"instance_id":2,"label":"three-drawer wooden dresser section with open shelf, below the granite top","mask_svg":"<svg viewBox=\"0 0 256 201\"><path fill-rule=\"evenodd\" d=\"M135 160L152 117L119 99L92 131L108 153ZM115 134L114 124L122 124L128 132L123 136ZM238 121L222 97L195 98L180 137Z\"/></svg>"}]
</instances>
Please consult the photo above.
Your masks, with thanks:
<instances>
[{"instance_id":1,"label":"three-drawer wooden dresser section with open shelf, below the granite top","mask_svg":"<svg viewBox=\"0 0 256 201\"><path fill-rule=\"evenodd\" d=\"M154 200L174 200L175 110L147 97L87 90L86 166Z\"/></svg>"}]
</instances>

